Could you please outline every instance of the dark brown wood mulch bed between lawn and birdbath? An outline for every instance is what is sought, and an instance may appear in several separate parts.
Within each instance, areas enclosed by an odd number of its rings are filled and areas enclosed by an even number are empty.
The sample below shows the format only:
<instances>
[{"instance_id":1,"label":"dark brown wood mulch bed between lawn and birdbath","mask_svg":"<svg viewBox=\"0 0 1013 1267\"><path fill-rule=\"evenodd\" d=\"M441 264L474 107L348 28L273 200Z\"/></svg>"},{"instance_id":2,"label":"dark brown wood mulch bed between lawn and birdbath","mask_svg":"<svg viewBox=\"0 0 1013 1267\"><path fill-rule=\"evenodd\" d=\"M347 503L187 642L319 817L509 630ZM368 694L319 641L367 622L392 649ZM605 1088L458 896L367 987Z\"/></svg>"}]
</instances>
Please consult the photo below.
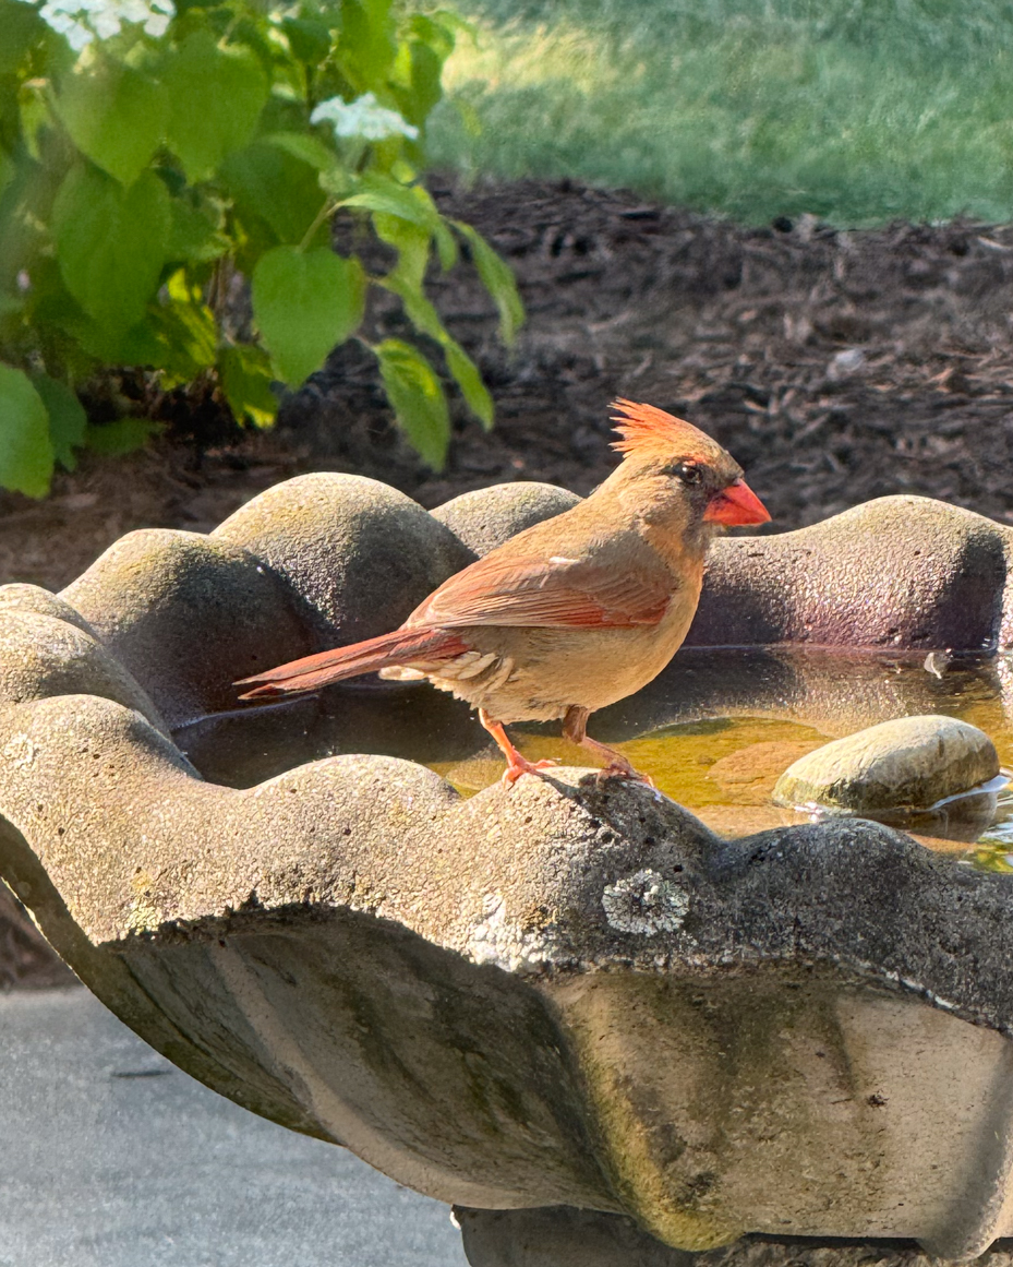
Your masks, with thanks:
<instances>
[{"instance_id":1,"label":"dark brown wood mulch bed between lawn and birdbath","mask_svg":"<svg viewBox=\"0 0 1013 1267\"><path fill-rule=\"evenodd\" d=\"M509 260L528 309L509 353L471 269L432 277L495 397L491 435L455 402L448 468L427 471L356 345L270 433L230 432L213 403L177 395L148 451L86 459L43 503L0 495L0 582L61 588L130 528L204 532L314 468L386 479L428 507L512 479L586 493L614 464L615 395L720 440L770 507L771 531L900 492L1013 522L1013 226L838 232L803 217L743 229L567 182L431 188ZM409 333L387 296L368 328Z\"/></svg>"}]
</instances>

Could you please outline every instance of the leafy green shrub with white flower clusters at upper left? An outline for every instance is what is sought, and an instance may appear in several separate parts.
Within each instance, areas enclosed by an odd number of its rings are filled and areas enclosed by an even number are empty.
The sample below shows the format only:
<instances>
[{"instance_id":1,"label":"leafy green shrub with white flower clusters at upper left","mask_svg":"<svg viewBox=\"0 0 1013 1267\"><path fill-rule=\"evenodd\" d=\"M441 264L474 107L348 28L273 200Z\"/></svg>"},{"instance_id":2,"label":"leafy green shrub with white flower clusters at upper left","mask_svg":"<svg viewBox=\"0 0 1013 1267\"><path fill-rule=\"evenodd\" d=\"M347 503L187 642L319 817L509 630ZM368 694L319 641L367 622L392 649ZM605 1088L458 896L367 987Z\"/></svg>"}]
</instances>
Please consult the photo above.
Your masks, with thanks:
<instances>
[{"instance_id":1,"label":"leafy green shrub with white flower clusters at upper left","mask_svg":"<svg viewBox=\"0 0 1013 1267\"><path fill-rule=\"evenodd\" d=\"M433 248L448 269L463 242L508 342L523 317L509 269L417 181L458 27L395 0L0 0L0 484L41 497L75 449L143 442L153 423L89 427L79 400L116 366L162 390L215 384L236 418L270 424L272 383L353 337L370 286L400 298L491 426L424 291ZM396 250L386 274L330 248L338 208ZM258 340L236 318L242 277ZM413 343L367 346L442 466L436 369Z\"/></svg>"}]
</instances>

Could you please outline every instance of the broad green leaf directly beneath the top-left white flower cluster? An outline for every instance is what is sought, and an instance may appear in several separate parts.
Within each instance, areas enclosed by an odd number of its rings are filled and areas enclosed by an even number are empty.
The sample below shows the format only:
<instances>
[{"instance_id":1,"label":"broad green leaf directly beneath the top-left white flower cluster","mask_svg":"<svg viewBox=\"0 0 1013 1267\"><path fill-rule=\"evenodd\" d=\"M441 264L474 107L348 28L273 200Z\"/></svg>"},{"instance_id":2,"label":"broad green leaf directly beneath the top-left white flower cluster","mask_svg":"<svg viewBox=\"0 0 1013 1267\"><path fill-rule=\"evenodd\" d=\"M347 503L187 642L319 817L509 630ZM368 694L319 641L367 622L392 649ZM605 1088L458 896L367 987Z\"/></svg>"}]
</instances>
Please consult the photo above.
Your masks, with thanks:
<instances>
[{"instance_id":1,"label":"broad green leaf directly beneath the top-left white flower cluster","mask_svg":"<svg viewBox=\"0 0 1013 1267\"><path fill-rule=\"evenodd\" d=\"M82 66L87 61L61 82L57 114L82 153L132 185L165 136L168 96L151 76L108 56Z\"/></svg>"}]
</instances>

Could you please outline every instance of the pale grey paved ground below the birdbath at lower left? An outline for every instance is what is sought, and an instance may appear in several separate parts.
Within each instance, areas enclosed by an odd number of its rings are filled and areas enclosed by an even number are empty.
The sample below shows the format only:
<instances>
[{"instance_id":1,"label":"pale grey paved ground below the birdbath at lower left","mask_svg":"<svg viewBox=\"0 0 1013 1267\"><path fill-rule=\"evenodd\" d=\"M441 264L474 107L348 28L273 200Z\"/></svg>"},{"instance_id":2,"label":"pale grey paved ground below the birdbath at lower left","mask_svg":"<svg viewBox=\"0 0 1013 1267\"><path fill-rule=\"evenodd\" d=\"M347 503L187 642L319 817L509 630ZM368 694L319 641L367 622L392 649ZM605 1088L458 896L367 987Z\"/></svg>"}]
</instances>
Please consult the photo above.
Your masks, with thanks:
<instances>
[{"instance_id":1,"label":"pale grey paved ground below the birdbath at lower left","mask_svg":"<svg viewBox=\"0 0 1013 1267\"><path fill-rule=\"evenodd\" d=\"M0 1267L465 1267L448 1209L181 1073L85 990L0 996Z\"/></svg>"}]
</instances>

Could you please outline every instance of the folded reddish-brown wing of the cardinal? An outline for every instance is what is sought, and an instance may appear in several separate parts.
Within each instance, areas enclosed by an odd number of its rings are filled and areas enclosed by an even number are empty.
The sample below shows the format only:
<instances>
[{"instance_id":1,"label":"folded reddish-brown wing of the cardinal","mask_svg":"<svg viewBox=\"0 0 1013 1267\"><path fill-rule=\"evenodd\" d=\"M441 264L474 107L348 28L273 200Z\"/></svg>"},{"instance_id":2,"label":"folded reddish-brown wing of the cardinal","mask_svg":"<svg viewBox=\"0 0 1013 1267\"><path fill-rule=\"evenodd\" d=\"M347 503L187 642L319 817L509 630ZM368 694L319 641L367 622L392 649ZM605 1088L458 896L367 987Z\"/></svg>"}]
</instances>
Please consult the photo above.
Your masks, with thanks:
<instances>
[{"instance_id":1,"label":"folded reddish-brown wing of the cardinal","mask_svg":"<svg viewBox=\"0 0 1013 1267\"><path fill-rule=\"evenodd\" d=\"M661 560L633 569L558 555L500 559L494 554L451 576L405 625L632 628L657 625L677 588Z\"/></svg>"}]
</instances>

